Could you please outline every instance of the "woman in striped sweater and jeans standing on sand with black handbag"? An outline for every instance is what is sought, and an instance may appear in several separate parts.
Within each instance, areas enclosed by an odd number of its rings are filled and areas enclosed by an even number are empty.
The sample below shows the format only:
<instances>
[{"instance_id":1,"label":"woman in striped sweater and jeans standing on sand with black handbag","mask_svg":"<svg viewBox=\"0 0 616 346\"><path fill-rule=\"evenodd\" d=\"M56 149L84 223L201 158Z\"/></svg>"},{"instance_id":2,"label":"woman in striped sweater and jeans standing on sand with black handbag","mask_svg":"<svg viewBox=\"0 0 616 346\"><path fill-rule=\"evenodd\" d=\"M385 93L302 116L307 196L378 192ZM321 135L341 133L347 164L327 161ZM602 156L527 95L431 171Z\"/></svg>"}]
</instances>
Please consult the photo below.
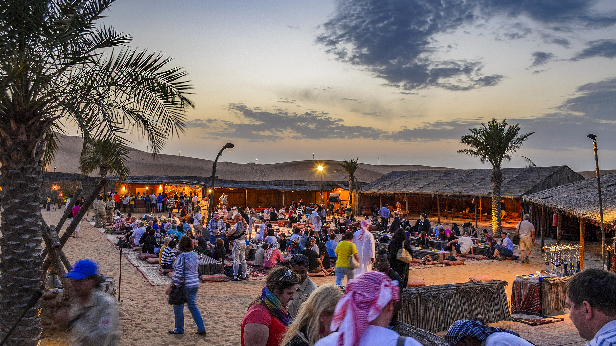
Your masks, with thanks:
<instances>
[{"instance_id":1,"label":"woman in striped sweater and jeans standing on sand with black handbag","mask_svg":"<svg viewBox=\"0 0 616 346\"><path fill-rule=\"evenodd\" d=\"M205 326L203 325L203 318L201 312L195 304L195 296L199 291L199 257L196 252L192 251L192 239L188 236L182 236L180 238L179 250L181 254L177 256L177 260L173 262L173 283L166 291L166 294L171 293L171 288L176 283L184 282L186 286L186 292L188 294L188 310L197 324L197 332L200 336L205 337ZM175 316L176 329L169 331L169 334L184 334L184 304L173 305L173 313Z\"/></svg>"}]
</instances>

